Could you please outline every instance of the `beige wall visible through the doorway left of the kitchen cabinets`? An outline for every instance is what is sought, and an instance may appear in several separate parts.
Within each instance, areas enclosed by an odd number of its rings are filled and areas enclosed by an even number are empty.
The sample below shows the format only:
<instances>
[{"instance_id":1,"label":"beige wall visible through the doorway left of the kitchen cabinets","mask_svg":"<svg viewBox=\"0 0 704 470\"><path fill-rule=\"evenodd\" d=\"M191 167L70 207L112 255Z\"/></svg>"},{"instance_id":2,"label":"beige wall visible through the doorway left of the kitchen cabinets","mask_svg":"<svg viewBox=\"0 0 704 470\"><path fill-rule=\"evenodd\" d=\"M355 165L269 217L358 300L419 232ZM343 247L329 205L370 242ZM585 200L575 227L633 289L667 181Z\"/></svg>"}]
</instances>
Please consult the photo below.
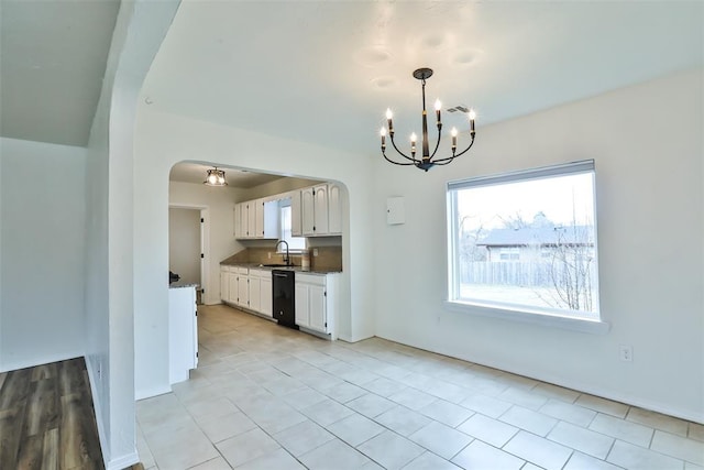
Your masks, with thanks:
<instances>
[{"instance_id":1,"label":"beige wall visible through the doorway left of the kitchen cabinets","mask_svg":"<svg viewBox=\"0 0 704 470\"><path fill-rule=\"evenodd\" d=\"M200 250L200 210L168 209L168 270L180 283L201 285Z\"/></svg>"}]
</instances>

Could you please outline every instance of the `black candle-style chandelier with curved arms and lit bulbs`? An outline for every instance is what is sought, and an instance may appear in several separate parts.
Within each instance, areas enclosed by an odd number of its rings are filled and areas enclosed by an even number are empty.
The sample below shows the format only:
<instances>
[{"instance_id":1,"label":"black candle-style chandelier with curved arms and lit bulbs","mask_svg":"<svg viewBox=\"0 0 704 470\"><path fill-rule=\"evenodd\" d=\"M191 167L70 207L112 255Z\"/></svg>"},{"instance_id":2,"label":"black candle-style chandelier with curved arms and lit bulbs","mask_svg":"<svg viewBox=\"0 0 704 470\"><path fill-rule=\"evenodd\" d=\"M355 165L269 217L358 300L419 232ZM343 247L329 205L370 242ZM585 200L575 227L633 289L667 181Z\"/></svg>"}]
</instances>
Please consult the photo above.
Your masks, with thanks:
<instances>
[{"instance_id":1,"label":"black candle-style chandelier with curved arms and lit bulbs","mask_svg":"<svg viewBox=\"0 0 704 470\"><path fill-rule=\"evenodd\" d=\"M438 152L438 147L440 146L440 136L442 131L442 121L440 120L440 109L442 108L442 103L440 102L440 100L436 100L436 120L437 120L437 127L438 127L438 142L436 143L436 147L432 151L432 153L430 153L430 146L428 143L428 113L426 111L426 78L430 78L431 76L432 76L432 68L418 68L417 70L414 72L414 77L419 79L420 83L422 84L422 141L421 141L422 153L419 159L416 159L416 142L418 140L418 136L416 135L415 132L410 134L410 156L406 155L404 152L398 150L398 147L396 146L396 142L394 141L394 123L392 122L393 113L391 109L386 110L387 127L382 128L382 131L381 131L382 155L384 155L384 159L386 159L386 161L388 161L389 163L393 163L394 165L414 165L417 168L420 168L427 172L428 170L432 168L435 165L447 165L451 163L454 159L457 159L458 156L462 155L463 153L472 149L472 145L474 144L474 135L476 133L474 131L474 119L476 118L476 114L473 109L470 109L469 112L466 113L470 120L470 138L472 139L472 141L470 142L470 145L466 149L464 149L462 152L458 153L457 152L458 130L455 128L452 128L452 131L450 132L450 134L452 135L452 147L451 147L452 156L447 156L444 159L435 159L436 153ZM388 136L391 138L392 145L394 145L394 149L396 150L396 152L404 157L404 160L402 160L400 162L397 162L386 156L386 134L387 133L388 133Z\"/></svg>"}]
</instances>

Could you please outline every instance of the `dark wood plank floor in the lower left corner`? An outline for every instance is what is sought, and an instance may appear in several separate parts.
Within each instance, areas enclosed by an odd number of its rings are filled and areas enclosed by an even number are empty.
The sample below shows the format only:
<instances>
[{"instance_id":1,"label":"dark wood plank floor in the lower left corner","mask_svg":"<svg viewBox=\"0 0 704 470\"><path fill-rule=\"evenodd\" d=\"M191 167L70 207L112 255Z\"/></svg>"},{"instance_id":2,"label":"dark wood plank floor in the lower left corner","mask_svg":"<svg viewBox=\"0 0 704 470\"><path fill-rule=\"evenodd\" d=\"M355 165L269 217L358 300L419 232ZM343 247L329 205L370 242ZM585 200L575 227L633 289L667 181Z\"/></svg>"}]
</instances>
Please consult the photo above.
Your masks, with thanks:
<instances>
[{"instance_id":1,"label":"dark wood plank floor in the lower left corner","mask_svg":"<svg viewBox=\"0 0 704 470\"><path fill-rule=\"evenodd\" d=\"M82 358L0 374L0 469L105 469Z\"/></svg>"}]
</instances>

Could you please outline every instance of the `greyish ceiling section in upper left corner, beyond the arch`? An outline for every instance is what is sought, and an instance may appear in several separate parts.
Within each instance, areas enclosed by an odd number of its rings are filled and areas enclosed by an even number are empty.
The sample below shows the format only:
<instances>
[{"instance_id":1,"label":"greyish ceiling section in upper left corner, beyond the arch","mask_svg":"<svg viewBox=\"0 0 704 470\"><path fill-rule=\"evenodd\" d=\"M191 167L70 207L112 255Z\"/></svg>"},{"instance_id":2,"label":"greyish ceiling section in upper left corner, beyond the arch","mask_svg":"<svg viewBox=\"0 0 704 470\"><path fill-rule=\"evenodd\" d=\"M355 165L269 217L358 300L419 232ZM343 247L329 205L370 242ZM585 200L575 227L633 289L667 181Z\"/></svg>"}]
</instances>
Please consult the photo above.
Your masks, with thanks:
<instances>
[{"instance_id":1,"label":"greyish ceiling section in upper left corner, beyond the arch","mask_svg":"<svg viewBox=\"0 0 704 470\"><path fill-rule=\"evenodd\" d=\"M120 0L0 1L0 135L85 146Z\"/></svg>"}]
</instances>

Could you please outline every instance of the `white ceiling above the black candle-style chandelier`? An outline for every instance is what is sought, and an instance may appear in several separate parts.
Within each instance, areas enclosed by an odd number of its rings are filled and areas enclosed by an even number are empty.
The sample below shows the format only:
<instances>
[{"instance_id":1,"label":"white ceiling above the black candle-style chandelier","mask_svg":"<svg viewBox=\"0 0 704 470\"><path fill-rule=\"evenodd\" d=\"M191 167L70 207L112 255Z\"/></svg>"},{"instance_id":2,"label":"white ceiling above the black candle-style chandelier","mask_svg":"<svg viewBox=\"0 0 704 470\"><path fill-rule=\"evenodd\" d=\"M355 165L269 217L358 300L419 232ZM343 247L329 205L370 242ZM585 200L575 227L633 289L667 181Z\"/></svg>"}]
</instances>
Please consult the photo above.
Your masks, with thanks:
<instances>
[{"instance_id":1,"label":"white ceiling above the black candle-style chandelier","mask_svg":"<svg viewBox=\"0 0 704 470\"><path fill-rule=\"evenodd\" d=\"M378 153L429 107L481 128L703 64L700 1L184 1L143 87L155 108ZM451 124L465 120L446 116Z\"/></svg>"}]
</instances>

